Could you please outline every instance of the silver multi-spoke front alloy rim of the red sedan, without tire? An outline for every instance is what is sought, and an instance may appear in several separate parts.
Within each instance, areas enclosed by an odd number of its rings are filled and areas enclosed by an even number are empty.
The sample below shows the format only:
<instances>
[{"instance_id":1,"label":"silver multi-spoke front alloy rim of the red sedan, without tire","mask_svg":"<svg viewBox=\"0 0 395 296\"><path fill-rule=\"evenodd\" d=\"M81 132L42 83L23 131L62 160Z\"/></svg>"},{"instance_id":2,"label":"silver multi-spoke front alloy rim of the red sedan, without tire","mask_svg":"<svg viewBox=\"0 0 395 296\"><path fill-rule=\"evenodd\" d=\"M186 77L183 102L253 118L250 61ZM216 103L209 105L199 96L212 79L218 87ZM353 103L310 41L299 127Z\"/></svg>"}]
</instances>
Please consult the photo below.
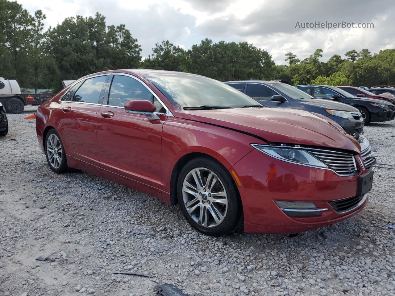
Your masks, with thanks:
<instances>
[{"instance_id":1,"label":"silver multi-spoke front alloy rim of the red sedan, without tire","mask_svg":"<svg viewBox=\"0 0 395 296\"><path fill-rule=\"evenodd\" d=\"M228 212L228 195L220 178L212 170L190 170L182 184L182 199L190 217L205 228L217 227Z\"/></svg>"}]
</instances>

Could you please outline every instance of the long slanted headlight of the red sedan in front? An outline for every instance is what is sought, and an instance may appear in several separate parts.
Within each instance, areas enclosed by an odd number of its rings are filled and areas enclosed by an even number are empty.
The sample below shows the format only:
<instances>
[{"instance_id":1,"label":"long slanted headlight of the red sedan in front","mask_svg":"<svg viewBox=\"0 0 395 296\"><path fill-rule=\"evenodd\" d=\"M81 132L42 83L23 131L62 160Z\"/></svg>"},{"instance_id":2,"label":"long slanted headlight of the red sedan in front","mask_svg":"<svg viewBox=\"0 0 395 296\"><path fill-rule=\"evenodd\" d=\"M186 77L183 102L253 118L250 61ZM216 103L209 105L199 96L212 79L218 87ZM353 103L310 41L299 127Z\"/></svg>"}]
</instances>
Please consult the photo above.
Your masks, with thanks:
<instances>
[{"instance_id":1,"label":"long slanted headlight of the red sedan in front","mask_svg":"<svg viewBox=\"0 0 395 296\"><path fill-rule=\"evenodd\" d=\"M303 149L295 149L291 147L271 147L270 145L251 144L252 147L258 149L260 152L267 154L276 159L297 163L299 165L309 165L313 167L327 167L316 157Z\"/></svg>"}]
</instances>

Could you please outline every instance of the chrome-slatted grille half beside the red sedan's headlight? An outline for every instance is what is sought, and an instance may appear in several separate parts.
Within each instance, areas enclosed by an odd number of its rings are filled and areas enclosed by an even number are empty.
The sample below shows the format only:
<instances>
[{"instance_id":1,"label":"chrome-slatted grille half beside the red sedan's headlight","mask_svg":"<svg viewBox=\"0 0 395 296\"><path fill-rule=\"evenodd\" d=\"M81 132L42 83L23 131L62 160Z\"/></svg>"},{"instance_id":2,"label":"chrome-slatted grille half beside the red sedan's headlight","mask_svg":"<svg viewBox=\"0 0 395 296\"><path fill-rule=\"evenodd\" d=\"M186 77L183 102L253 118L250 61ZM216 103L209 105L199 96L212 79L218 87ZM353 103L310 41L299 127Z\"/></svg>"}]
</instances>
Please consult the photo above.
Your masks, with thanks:
<instances>
[{"instance_id":1,"label":"chrome-slatted grille half beside the red sedan's headlight","mask_svg":"<svg viewBox=\"0 0 395 296\"><path fill-rule=\"evenodd\" d=\"M306 149L310 154L320 159L329 169L334 170L340 176L349 176L356 172L357 167L354 161L354 155L338 152L333 150L321 150L321 149Z\"/></svg>"}]
</instances>

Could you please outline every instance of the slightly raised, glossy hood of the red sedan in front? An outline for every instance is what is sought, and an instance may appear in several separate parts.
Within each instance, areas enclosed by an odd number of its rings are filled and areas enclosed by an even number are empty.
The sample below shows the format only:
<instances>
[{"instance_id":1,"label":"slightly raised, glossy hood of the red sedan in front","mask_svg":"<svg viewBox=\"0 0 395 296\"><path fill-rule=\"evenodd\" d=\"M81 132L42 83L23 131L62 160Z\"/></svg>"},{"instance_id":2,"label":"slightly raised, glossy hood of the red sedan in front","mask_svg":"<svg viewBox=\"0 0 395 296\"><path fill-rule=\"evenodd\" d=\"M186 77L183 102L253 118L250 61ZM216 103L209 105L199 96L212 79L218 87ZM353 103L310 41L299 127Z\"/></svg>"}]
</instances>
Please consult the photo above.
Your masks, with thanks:
<instances>
[{"instance_id":1,"label":"slightly raised, glossy hood of the red sedan in front","mask_svg":"<svg viewBox=\"0 0 395 296\"><path fill-rule=\"evenodd\" d=\"M185 111L177 116L234 129L267 142L312 145L361 152L358 142L333 120L317 114L282 108L235 108Z\"/></svg>"}]
</instances>

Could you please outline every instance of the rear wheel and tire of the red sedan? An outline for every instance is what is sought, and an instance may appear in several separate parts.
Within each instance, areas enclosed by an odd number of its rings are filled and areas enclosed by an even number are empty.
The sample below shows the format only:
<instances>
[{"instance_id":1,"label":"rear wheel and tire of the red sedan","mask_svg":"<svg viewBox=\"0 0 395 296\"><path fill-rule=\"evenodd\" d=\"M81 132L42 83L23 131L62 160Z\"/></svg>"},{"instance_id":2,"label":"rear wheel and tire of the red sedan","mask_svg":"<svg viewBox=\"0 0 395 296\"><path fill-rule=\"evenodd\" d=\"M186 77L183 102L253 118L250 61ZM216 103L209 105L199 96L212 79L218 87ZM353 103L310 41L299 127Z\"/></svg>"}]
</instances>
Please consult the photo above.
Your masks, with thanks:
<instances>
[{"instance_id":1,"label":"rear wheel and tire of the red sedan","mask_svg":"<svg viewBox=\"0 0 395 296\"><path fill-rule=\"evenodd\" d=\"M45 136L45 156L51 170L61 174L67 170L66 153L60 136L55 129L51 129Z\"/></svg>"}]
</instances>

